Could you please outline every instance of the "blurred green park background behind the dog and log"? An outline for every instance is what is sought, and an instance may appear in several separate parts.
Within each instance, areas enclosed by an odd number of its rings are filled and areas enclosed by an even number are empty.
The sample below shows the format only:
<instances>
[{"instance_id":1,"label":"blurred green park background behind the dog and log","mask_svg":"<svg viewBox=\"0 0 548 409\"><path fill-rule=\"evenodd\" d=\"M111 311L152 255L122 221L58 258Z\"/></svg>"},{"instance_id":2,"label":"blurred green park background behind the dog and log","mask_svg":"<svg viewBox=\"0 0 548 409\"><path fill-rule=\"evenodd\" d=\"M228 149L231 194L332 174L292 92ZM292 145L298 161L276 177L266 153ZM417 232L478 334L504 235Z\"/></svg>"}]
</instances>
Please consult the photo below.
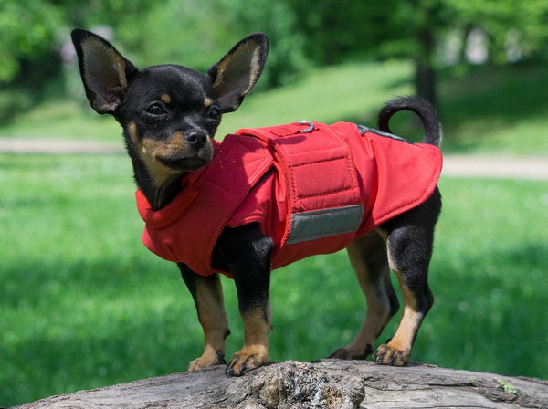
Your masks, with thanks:
<instances>
[{"instance_id":1,"label":"blurred green park background behind the dog and log","mask_svg":"<svg viewBox=\"0 0 548 409\"><path fill-rule=\"evenodd\" d=\"M386 100L431 100L448 163L510 171L442 175L437 303L414 359L548 378L548 183L511 174L548 162L547 23L543 0L0 0L0 406L184 371L201 353L176 267L140 243L121 130L85 100L74 27L138 68L205 70L268 34L267 68L219 137L302 119L375 126ZM394 131L422 129L402 113ZM342 252L274 273L274 360L352 340L364 300L348 269ZM225 284L229 356L241 324Z\"/></svg>"}]
</instances>

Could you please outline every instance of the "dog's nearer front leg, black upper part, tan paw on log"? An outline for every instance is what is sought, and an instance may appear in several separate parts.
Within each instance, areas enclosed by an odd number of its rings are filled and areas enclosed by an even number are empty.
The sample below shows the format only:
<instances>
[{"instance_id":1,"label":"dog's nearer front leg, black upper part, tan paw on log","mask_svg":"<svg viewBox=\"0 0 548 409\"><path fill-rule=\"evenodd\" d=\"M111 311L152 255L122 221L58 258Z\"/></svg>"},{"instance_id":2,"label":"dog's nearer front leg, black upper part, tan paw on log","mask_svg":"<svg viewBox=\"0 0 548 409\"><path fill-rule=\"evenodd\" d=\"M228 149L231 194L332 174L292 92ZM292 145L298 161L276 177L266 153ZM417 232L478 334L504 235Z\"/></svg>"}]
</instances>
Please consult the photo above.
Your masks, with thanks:
<instances>
[{"instance_id":1,"label":"dog's nearer front leg, black upper part, tan paw on log","mask_svg":"<svg viewBox=\"0 0 548 409\"><path fill-rule=\"evenodd\" d=\"M244 346L227 365L227 375L239 376L269 362L270 255L272 240L257 225L226 229L217 243L227 256L237 288L244 324Z\"/></svg>"}]
</instances>

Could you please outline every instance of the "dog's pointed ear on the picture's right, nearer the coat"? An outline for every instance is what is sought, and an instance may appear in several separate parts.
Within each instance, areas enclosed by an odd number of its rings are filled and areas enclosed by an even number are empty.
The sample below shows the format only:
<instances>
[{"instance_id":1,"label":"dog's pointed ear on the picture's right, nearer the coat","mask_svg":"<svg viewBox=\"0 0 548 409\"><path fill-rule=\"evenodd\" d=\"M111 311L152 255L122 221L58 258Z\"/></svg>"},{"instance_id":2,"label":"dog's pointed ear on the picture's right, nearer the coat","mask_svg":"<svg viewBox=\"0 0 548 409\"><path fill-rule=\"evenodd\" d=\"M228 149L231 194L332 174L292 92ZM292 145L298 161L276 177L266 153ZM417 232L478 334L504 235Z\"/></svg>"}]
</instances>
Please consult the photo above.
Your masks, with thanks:
<instances>
[{"instance_id":1,"label":"dog's pointed ear on the picture's right, nearer the coat","mask_svg":"<svg viewBox=\"0 0 548 409\"><path fill-rule=\"evenodd\" d=\"M268 54L269 37L262 33L252 34L207 70L223 112L237 110L257 83Z\"/></svg>"}]
</instances>

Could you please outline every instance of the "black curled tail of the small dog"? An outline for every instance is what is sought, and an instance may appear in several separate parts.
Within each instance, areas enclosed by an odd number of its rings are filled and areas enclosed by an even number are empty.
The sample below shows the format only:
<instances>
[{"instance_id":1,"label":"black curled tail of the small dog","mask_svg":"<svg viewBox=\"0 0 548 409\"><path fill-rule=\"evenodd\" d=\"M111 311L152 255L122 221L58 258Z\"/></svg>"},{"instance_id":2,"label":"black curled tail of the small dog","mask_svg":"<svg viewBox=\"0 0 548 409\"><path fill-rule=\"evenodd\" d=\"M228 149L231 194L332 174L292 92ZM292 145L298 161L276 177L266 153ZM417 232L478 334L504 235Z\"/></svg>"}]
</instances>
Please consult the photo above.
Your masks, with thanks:
<instances>
[{"instance_id":1,"label":"black curled tail of the small dog","mask_svg":"<svg viewBox=\"0 0 548 409\"><path fill-rule=\"evenodd\" d=\"M388 122L394 114L400 110L411 110L415 112L425 127L423 143L439 146L443 131L441 129L441 123L437 119L437 112L430 102L420 97L400 97L389 100L379 112L379 130L392 133Z\"/></svg>"}]
</instances>

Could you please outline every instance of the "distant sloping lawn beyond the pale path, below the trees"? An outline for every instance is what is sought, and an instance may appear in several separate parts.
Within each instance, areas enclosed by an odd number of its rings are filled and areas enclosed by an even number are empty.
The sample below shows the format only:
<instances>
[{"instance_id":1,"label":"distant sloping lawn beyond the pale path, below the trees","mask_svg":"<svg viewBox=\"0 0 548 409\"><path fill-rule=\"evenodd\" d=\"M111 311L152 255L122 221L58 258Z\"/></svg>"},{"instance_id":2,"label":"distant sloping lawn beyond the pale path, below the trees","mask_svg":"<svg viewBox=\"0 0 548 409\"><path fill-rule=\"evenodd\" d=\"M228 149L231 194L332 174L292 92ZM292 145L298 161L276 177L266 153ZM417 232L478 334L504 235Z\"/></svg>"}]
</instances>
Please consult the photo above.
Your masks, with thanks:
<instances>
[{"instance_id":1,"label":"distant sloping lawn beyond the pale path, below the trees","mask_svg":"<svg viewBox=\"0 0 548 409\"><path fill-rule=\"evenodd\" d=\"M302 119L374 126L386 100L413 92L412 78L412 65L397 61L313 69L290 86L252 92L237 113L225 116L218 135ZM548 155L545 66L480 67L461 78L441 73L438 83L444 152ZM409 118L398 115L393 128L416 140L422 128ZM0 137L12 136L117 141L121 130L90 109L82 89L79 100L48 101L0 126Z\"/></svg>"}]
</instances>

